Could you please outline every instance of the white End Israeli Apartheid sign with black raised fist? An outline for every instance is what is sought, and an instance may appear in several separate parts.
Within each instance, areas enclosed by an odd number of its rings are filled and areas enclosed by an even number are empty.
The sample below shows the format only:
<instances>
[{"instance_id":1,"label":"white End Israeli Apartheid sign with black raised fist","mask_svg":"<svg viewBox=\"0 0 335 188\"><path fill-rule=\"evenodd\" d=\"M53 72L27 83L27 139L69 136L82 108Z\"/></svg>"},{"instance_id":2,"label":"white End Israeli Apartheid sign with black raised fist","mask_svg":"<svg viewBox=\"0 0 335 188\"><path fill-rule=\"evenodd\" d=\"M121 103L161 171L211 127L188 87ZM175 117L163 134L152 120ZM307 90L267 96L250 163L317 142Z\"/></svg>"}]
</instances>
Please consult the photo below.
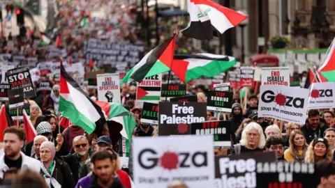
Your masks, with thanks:
<instances>
[{"instance_id":1,"label":"white End Israeli Apartheid sign with black raised fist","mask_svg":"<svg viewBox=\"0 0 335 188\"><path fill-rule=\"evenodd\" d=\"M119 74L96 75L98 100L121 103Z\"/></svg>"}]
</instances>

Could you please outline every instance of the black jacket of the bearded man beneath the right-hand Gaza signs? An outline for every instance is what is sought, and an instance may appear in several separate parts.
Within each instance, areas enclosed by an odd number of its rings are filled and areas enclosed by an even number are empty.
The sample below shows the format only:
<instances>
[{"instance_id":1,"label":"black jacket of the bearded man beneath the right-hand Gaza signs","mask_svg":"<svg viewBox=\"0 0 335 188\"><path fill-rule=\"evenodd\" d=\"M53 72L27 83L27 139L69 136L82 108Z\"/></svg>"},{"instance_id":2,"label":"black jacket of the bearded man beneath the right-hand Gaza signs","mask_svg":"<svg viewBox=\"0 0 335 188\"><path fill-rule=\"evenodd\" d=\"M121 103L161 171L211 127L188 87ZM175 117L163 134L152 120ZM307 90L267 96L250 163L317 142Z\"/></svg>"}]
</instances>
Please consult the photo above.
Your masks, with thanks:
<instances>
[{"instance_id":1,"label":"black jacket of the bearded man beneath the right-hand Gaza signs","mask_svg":"<svg viewBox=\"0 0 335 188\"><path fill-rule=\"evenodd\" d=\"M313 139L315 138L323 138L323 133L325 132L325 130L327 130L328 126L326 124L326 121L322 118L320 118L320 123L318 125L318 128L316 130L313 130L309 123L308 123L308 118L306 119L306 123L304 126L301 127L301 132L304 133L305 137L306 137L306 141L307 143L311 143L311 141L313 141Z\"/></svg>"}]
</instances>

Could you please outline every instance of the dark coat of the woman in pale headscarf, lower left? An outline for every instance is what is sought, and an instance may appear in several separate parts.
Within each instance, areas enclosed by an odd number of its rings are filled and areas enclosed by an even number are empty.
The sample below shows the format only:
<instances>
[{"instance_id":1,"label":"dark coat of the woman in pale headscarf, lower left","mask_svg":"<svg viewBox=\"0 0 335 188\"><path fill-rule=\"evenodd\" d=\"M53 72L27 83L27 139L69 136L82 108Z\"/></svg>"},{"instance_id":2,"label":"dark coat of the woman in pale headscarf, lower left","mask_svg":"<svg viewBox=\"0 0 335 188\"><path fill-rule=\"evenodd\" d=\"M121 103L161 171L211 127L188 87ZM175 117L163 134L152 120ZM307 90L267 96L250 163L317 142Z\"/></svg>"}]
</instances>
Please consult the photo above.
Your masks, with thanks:
<instances>
[{"instance_id":1,"label":"dark coat of the woman in pale headscarf, lower left","mask_svg":"<svg viewBox=\"0 0 335 188\"><path fill-rule=\"evenodd\" d=\"M57 158L54 173L52 173L52 178L55 178L62 188L73 188L75 187L75 180L73 180L73 174L71 172L70 166L64 161ZM43 171L41 171L43 174Z\"/></svg>"}]
</instances>

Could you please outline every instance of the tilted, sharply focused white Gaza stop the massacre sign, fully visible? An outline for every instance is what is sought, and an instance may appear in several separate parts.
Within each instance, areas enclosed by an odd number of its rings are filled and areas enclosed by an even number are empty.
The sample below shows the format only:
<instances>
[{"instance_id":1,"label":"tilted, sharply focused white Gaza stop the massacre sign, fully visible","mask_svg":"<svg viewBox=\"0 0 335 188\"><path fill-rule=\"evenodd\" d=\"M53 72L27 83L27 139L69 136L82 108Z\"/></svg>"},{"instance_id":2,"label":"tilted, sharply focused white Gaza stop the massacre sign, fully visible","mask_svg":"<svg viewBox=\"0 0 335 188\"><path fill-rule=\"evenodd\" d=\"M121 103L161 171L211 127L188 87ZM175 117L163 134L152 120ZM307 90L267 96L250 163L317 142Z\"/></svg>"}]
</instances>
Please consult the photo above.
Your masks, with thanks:
<instances>
[{"instance_id":1,"label":"tilted, sharply focused white Gaza stop the massacre sign, fully visible","mask_svg":"<svg viewBox=\"0 0 335 188\"><path fill-rule=\"evenodd\" d=\"M287 86L260 86L258 117L276 118L304 124L306 120L308 89Z\"/></svg>"}]
</instances>

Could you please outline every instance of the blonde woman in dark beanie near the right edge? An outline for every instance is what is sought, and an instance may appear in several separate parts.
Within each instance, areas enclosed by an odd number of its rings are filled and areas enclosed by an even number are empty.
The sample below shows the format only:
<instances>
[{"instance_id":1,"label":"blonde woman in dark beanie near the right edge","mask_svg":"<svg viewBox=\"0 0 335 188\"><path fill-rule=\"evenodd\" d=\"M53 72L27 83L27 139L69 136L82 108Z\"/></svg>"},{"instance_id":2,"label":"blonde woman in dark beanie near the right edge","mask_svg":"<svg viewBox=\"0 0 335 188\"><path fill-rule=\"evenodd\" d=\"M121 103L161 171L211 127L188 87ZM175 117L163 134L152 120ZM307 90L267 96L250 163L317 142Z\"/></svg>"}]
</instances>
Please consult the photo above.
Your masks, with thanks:
<instances>
[{"instance_id":1,"label":"blonde woman in dark beanie near the right edge","mask_svg":"<svg viewBox=\"0 0 335 188\"><path fill-rule=\"evenodd\" d=\"M306 151L305 162L315 163L322 159L332 161L332 150L330 150L327 139L317 138L309 144Z\"/></svg>"}]
</instances>

